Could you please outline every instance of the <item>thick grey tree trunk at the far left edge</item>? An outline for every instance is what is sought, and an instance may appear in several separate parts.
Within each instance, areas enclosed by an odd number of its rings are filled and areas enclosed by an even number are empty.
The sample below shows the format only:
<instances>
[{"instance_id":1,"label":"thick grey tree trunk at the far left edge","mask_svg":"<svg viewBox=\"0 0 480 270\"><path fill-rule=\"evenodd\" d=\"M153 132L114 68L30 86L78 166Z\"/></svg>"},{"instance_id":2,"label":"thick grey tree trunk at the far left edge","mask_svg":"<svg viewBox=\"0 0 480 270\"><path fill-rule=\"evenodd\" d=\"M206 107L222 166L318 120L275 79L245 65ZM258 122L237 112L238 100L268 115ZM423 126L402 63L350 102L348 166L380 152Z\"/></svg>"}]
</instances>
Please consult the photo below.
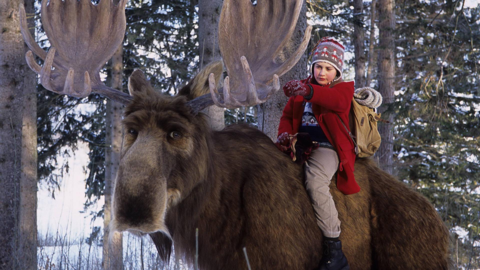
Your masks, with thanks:
<instances>
[{"instance_id":1,"label":"thick grey tree trunk at the far left edge","mask_svg":"<svg viewBox=\"0 0 480 270\"><path fill-rule=\"evenodd\" d=\"M28 171L32 160L25 160L22 163L23 154L32 154L31 148L22 150L22 119L31 117L27 112L25 115L22 107L24 103L24 94L31 91L32 76L26 73L28 69L24 57L24 40L20 34L20 21L18 16L18 6L23 3L22 0L1 0L0 1L0 268L1 269L19 269L20 262L23 261L23 255L18 254L19 245L23 243L19 236L29 235L27 232L32 228L24 227L25 232L20 232L19 227L24 226L24 217L31 217L29 213L23 212L19 216L20 203L20 182L36 172ZM31 11L31 9L30 9ZM28 89L26 89L28 88ZM35 99L35 95L31 97ZM36 130L36 118L30 118L28 123L29 130ZM32 123L33 121L33 123ZM29 138L31 139L31 138ZM31 141L25 146L32 147ZM35 148L34 148L35 149ZM36 153L36 150L33 150ZM30 157L32 158L32 157ZM36 168L36 160L33 161ZM25 171L21 171L22 165L27 166ZM22 187L25 191L31 192L26 182L22 181ZM26 209L25 209L26 210ZM35 211L35 209L33 209ZM19 220L21 218L21 220ZM35 222L35 221L34 221ZM36 237L36 235L35 235ZM24 239L26 240L26 239ZM22 249L20 249L22 250ZM35 250L36 251L36 250ZM20 257L22 256L22 257Z\"/></svg>"}]
</instances>

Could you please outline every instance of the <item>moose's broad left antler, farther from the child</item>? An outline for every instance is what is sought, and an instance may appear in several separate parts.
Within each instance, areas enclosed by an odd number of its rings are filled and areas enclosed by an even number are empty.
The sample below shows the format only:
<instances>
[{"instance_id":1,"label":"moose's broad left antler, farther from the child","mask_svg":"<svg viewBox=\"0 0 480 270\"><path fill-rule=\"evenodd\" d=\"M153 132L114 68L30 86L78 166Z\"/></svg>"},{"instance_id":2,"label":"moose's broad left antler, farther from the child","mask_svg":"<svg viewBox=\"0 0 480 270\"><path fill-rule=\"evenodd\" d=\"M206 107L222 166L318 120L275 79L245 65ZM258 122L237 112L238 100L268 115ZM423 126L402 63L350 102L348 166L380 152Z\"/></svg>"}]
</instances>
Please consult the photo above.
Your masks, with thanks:
<instances>
[{"instance_id":1,"label":"moose's broad left antler, farther from the child","mask_svg":"<svg viewBox=\"0 0 480 270\"><path fill-rule=\"evenodd\" d=\"M50 91L83 98L96 92L120 103L131 97L105 86L100 80L100 69L112 57L125 36L125 4L120 0L101 0L97 5L90 0L42 1L43 28L50 41L48 53L41 49L30 35L25 9L20 4L20 29L31 49L25 55L28 66L40 74L41 84ZM33 52L45 62L39 66ZM54 70L51 68L55 67Z\"/></svg>"}]
</instances>

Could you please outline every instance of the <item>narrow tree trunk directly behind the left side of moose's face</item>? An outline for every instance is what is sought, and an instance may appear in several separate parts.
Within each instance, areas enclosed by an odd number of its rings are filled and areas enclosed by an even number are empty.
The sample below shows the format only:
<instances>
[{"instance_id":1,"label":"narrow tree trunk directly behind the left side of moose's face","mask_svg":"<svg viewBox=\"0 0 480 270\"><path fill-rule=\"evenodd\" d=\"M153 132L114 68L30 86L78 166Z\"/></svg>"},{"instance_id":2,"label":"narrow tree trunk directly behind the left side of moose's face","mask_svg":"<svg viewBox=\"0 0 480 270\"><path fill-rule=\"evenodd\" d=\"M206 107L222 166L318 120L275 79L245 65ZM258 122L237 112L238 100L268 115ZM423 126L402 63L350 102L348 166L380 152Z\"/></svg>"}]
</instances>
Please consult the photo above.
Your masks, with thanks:
<instances>
[{"instance_id":1,"label":"narrow tree trunk directly behind the left side of moose's face","mask_svg":"<svg viewBox=\"0 0 480 270\"><path fill-rule=\"evenodd\" d=\"M119 91L123 89L123 44L111 59L111 87ZM120 163L120 150L122 144L121 115L122 105L112 100L107 100L106 143L110 147L105 149L105 205L103 208L103 225L108 228L111 219L112 193L115 186L115 177ZM122 233L115 232L108 239L108 230L103 235L103 269L123 269Z\"/></svg>"}]
</instances>

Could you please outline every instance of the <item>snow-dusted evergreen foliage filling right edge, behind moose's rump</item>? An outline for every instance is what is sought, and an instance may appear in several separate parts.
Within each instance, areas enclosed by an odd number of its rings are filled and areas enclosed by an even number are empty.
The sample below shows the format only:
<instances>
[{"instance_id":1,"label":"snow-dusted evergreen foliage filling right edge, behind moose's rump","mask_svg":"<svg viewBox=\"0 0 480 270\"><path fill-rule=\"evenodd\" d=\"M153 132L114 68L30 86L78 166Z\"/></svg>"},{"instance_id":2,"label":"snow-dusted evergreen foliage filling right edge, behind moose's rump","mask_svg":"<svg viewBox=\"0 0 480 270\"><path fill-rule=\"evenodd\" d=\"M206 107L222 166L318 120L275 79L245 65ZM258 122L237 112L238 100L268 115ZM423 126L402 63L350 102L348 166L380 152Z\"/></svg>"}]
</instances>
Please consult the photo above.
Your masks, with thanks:
<instances>
[{"instance_id":1,"label":"snow-dusted evergreen foliage filling right edge, behind moose's rump","mask_svg":"<svg viewBox=\"0 0 480 270\"><path fill-rule=\"evenodd\" d=\"M468 233L458 261L472 269L480 255L480 8L462 5L397 7L395 152L400 178L431 200L454 235Z\"/></svg>"}]
</instances>

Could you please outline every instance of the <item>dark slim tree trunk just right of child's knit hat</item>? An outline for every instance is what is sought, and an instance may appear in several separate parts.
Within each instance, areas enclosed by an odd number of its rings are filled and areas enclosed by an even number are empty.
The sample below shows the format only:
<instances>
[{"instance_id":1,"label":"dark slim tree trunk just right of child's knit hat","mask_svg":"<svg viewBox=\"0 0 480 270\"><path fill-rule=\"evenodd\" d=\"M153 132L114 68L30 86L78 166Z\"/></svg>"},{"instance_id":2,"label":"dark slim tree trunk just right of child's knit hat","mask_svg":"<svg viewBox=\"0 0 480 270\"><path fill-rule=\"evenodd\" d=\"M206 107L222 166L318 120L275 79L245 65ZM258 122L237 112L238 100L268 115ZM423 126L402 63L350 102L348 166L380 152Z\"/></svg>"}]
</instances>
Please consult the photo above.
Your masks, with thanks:
<instances>
[{"instance_id":1,"label":"dark slim tree trunk just right of child's knit hat","mask_svg":"<svg viewBox=\"0 0 480 270\"><path fill-rule=\"evenodd\" d=\"M355 49L355 88L365 86L365 33L363 30L363 2L353 0L353 45Z\"/></svg>"}]
</instances>

